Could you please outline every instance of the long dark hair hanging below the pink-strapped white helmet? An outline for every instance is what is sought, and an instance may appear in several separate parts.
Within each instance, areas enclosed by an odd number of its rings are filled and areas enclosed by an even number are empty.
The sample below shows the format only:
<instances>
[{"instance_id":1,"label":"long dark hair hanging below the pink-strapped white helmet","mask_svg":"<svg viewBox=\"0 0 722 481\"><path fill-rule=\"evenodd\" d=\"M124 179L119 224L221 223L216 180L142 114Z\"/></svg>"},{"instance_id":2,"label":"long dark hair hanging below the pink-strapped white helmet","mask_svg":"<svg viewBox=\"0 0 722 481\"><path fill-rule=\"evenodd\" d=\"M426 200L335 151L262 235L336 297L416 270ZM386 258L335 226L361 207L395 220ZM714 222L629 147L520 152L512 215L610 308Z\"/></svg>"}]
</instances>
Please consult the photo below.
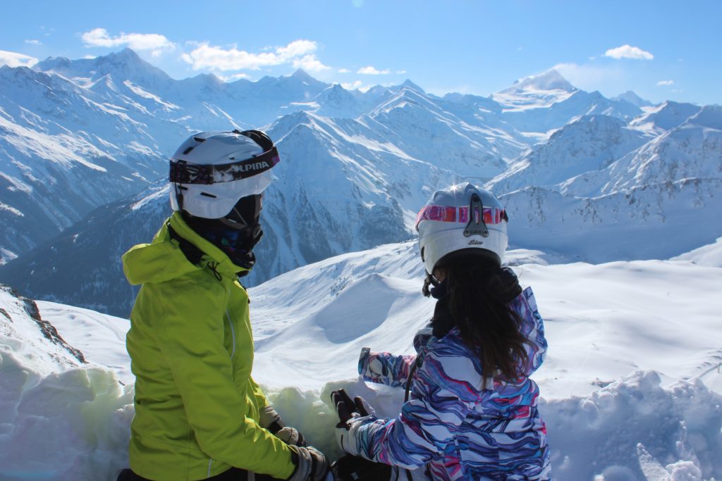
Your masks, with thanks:
<instances>
[{"instance_id":1,"label":"long dark hair hanging below the pink-strapped white helmet","mask_svg":"<svg viewBox=\"0 0 722 481\"><path fill-rule=\"evenodd\" d=\"M516 275L479 257L464 256L444 266L448 306L461 338L482 361L484 384L513 381L528 361L521 317L509 303L521 294Z\"/></svg>"}]
</instances>

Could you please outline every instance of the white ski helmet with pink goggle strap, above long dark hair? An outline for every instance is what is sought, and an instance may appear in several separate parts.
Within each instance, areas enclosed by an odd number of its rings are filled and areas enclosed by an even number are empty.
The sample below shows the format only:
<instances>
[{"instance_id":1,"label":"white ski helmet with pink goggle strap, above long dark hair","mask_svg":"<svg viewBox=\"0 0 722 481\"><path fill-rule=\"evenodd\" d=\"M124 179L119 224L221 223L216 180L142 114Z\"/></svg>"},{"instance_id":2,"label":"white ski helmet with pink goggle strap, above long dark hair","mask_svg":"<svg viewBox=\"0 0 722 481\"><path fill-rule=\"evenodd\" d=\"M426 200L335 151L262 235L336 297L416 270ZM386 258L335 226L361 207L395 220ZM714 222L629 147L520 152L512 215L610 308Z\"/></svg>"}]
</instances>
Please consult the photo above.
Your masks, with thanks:
<instances>
[{"instance_id":1,"label":"white ski helmet with pink goggle strap, above long dark hair","mask_svg":"<svg viewBox=\"0 0 722 481\"><path fill-rule=\"evenodd\" d=\"M482 255L501 265L508 244L507 222L506 211L488 190L470 183L437 190L416 219L427 273L443 265L443 257L451 252Z\"/></svg>"}]
</instances>

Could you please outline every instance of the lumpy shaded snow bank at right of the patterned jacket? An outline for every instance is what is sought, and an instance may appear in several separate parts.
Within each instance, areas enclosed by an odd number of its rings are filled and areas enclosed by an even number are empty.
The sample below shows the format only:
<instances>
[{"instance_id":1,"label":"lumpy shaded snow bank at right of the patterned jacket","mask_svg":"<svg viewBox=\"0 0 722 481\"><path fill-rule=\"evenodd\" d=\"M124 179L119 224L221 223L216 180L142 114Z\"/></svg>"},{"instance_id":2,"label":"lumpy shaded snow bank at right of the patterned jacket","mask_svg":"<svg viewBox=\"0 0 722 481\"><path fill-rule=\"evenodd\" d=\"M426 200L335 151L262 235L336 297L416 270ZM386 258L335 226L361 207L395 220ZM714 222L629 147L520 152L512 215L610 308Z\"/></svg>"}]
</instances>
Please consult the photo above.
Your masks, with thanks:
<instances>
[{"instance_id":1,"label":"lumpy shaded snow bank at right of the patterned jacket","mask_svg":"<svg viewBox=\"0 0 722 481\"><path fill-rule=\"evenodd\" d=\"M656 371L637 371L585 397L542 402L554 479L718 478L721 402L699 379L663 387Z\"/></svg>"}]
</instances>

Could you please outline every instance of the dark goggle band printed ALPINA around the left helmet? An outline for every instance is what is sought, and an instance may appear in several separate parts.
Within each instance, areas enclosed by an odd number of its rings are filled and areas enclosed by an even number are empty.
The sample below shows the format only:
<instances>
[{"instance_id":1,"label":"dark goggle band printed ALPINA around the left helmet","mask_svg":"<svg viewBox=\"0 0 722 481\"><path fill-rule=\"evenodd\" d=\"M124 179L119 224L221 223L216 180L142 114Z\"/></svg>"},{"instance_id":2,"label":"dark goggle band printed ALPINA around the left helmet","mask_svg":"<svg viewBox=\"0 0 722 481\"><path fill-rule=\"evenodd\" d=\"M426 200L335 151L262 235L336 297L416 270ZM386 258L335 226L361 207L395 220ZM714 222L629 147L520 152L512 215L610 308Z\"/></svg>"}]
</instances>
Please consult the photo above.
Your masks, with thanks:
<instances>
[{"instance_id":1,"label":"dark goggle band printed ALPINA around the left helmet","mask_svg":"<svg viewBox=\"0 0 722 481\"><path fill-rule=\"evenodd\" d=\"M191 164L184 160L170 161L170 182L176 184L211 185L219 182L233 182L262 174L281 162L275 146L263 154L228 164Z\"/></svg>"}]
</instances>

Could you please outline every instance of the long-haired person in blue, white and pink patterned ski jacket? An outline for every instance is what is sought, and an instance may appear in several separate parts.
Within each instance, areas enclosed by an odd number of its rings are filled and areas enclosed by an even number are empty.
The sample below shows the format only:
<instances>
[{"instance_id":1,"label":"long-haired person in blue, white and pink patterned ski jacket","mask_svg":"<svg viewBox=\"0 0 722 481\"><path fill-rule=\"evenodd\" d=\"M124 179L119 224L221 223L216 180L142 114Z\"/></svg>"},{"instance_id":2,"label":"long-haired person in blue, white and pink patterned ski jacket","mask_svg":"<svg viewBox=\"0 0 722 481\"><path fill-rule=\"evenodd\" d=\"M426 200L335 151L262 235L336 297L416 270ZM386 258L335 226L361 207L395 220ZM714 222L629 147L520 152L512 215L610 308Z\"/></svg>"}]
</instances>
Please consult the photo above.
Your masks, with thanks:
<instances>
[{"instance_id":1,"label":"long-haired person in blue, white and pink patterned ski jacket","mask_svg":"<svg viewBox=\"0 0 722 481\"><path fill-rule=\"evenodd\" d=\"M419 212L434 315L414 338L417 356L364 348L358 366L365 381L406 387L408 400L383 419L334 392L344 451L414 478L552 479L539 387L529 379L547 341L531 288L502 267L507 222L497 198L471 184L434 193Z\"/></svg>"}]
</instances>

